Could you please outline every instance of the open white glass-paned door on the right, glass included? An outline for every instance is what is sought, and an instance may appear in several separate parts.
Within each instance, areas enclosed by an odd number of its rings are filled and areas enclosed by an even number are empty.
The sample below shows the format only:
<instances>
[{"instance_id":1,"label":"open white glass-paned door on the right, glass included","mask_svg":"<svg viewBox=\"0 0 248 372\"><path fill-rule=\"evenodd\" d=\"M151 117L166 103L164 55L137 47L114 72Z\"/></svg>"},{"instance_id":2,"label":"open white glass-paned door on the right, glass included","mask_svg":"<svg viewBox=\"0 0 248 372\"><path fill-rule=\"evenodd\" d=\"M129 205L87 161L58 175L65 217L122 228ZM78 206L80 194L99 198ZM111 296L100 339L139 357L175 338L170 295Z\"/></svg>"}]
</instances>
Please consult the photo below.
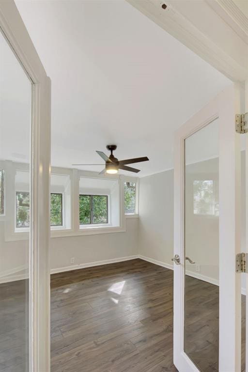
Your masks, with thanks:
<instances>
[{"instance_id":1,"label":"open white glass-paned door on the right, glass included","mask_svg":"<svg viewBox=\"0 0 248 372\"><path fill-rule=\"evenodd\" d=\"M175 135L173 360L179 372L241 370L240 135L232 84ZM175 259L177 257L177 260Z\"/></svg>"}]
</instances>

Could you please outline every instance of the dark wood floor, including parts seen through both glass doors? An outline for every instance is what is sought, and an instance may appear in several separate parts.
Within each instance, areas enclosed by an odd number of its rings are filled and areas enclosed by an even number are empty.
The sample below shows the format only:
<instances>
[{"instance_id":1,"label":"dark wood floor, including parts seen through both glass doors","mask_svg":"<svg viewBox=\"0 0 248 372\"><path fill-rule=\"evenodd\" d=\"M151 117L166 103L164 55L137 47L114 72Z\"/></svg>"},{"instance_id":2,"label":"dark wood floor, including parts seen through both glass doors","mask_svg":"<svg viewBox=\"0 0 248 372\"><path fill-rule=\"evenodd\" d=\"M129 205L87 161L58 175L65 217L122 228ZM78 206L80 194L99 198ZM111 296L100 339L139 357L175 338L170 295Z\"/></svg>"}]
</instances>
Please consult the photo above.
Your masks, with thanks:
<instances>
[{"instance_id":1,"label":"dark wood floor, including parts seen through both glass doors","mask_svg":"<svg viewBox=\"0 0 248 372\"><path fill-rule=\"evenodd\" d=\"M186 281L187 352L215 372L217 287ZM27 372L25 285L0 285L2 372ZM175 372L172 285L171 270L142 260L52 275L51 372Z\"/></svg>"}]
</instances>

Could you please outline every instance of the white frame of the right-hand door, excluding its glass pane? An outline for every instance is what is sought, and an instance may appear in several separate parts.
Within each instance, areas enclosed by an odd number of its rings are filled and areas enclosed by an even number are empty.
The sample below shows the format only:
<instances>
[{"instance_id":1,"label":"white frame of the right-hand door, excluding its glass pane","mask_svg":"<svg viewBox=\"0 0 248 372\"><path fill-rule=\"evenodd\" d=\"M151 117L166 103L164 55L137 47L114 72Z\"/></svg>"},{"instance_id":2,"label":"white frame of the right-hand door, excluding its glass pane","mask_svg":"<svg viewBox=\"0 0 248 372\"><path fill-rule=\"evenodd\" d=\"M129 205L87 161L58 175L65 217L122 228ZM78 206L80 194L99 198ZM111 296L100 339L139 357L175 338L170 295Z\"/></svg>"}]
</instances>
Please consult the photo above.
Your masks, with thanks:
<instances>
[{"instance_id":1,"label":"white frame of the right-hand door, excluding its glass pane","mask_svg":"<svg viewBox=\"0 0 248 372\"><path fill-rule=\"evenodd\" d=\"M235 113L239 110L240 86L233 84L191 117L175 134L174 254L180 256L181 264L174 264L174 304L177 305L174 305L173 358L180 372L199 371L184 352L185 139L217 118L219 121L220 210L219 371L240 371L241 276L235 272L235 255L240 252L241 172L240 135L235 132L234 128ZM226 187L227 184L228 187ZM178 288L181 290L178 291Z\"/></svg>"}]
</instances>

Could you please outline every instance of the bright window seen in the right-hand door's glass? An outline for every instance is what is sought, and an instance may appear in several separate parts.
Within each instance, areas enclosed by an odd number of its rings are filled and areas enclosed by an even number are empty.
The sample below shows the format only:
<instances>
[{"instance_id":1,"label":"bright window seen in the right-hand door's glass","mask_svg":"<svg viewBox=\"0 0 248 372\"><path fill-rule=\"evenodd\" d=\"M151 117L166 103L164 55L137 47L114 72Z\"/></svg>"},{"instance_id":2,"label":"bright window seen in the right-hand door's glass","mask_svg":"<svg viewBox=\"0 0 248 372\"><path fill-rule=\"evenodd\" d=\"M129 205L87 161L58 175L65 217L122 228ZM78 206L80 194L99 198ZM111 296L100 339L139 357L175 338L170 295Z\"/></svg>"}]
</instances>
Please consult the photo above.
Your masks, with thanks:
<instances>
[{"instance_id":1,"label":"bright window seen in the right-hand door's glass","mask_svg":"<svg viewBox=\"0 0 248 372\"><path fill-rule=\"evenodd\" d=\"M218 204L215 201L213 180L195 180L193 182L194 214L218 215Z\"/></svg>"}]
</instances>

